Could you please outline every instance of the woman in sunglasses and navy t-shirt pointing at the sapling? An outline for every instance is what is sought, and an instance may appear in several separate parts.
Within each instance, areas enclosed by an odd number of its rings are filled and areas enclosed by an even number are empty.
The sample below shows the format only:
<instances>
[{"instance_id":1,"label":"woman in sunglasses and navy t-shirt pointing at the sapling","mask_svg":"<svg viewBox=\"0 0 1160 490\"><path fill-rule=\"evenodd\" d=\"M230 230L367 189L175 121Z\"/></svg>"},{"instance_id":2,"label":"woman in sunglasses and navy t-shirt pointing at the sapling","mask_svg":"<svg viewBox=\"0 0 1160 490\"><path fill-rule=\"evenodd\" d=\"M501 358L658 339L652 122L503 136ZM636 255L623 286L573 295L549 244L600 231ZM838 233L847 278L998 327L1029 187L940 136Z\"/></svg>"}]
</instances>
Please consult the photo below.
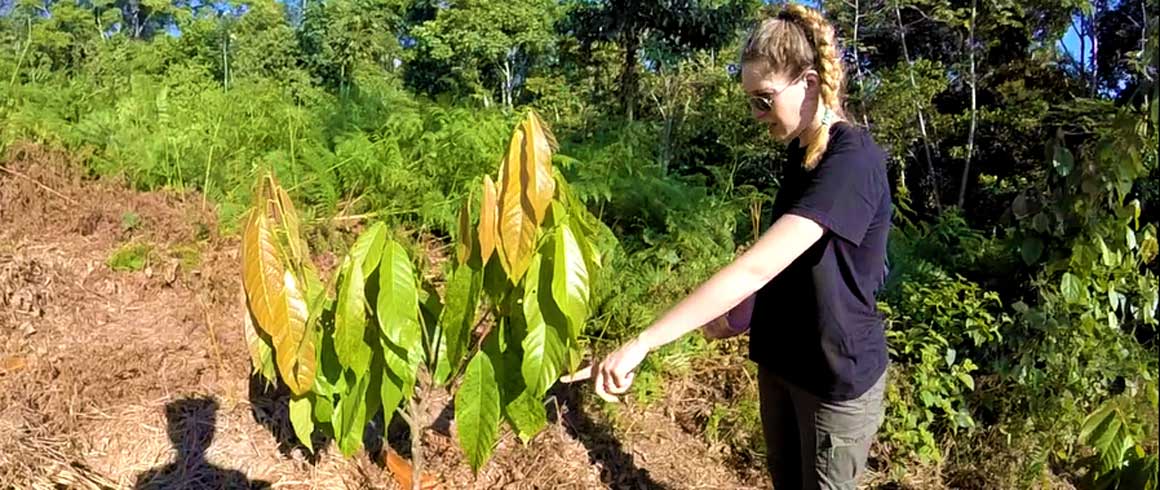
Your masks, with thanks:
<instances>
[{"instance_id":1,"label":"woman in sunglasses and navy t-shirt pointing at the sapling","mask_svg":"<svg viewBox=\"0 0 1160 490\"><path fill-rule=\"evenodd\" d=\"M844 120L843 79L833 27L817 10L790 5L754 28L741 85L754 117L789 145L774 224L637 338L564 379L593 377L615 402L650 351L755 294L749 358L777 489L855 488L883 418L886 341L875 291L891 196L884 151Z\"/></svg>"}]
</instances>

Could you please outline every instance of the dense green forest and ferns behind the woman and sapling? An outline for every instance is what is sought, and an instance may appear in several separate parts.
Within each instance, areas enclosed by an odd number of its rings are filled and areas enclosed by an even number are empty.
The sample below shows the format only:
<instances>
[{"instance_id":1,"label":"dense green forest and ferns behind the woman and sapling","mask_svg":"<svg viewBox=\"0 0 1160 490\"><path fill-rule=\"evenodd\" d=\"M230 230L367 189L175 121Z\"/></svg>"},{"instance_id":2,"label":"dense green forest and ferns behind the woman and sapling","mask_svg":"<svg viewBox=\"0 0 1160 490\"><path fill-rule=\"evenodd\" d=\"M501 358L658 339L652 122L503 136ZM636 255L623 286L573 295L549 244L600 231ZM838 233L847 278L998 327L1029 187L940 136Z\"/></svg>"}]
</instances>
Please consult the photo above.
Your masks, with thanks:
<instances>
[{"instance_id":1,"label":"dense green forest and ferns behind the woman and sapling","mask_svg":"<svg viewBox=\"0 0 1160 490\"><path fill-rule=\"evenodd\" d=\"M1155 488L1155 0L818 6L851 120L891 156L886 473ZM763 7L0 0L0 150L36 142L94 176L198 192L227 232L274 168L312 246L342 250L334 219L447 239L534 108L616 244L587 326L601 346L769 224L783 150L735 66ZM670 359L722 355L693 337L650 358L643 403L681 375ZM760 455L749 395L704 434Z\"/></svg>"}]
</instances>

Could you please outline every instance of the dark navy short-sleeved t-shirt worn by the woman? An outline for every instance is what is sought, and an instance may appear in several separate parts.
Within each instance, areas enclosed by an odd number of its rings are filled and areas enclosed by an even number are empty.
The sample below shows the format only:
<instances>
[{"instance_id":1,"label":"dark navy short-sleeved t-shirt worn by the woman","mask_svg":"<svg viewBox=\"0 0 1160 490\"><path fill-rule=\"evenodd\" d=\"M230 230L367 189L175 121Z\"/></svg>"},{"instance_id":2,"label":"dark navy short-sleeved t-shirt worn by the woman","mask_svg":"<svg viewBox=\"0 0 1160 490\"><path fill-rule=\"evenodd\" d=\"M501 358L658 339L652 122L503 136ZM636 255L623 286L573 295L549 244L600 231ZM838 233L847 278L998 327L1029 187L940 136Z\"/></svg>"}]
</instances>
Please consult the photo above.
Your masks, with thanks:
<instances>
[{"instance_id":1,"label":"dark navy short-sleeved t-shirt worn by the woman","mask_svg":"<svg viewBox=\"0 0 1160 490\"><path fill-rule=\"evenodd\" d=\"M821 239L757 291L749 358L829 401L857 398L886 369L886 339L875 293L885 280L891 196L886 153L847 123L831 127L818 166L790 144L774 202L810 218Z\"/></svg>"}]
</instances>

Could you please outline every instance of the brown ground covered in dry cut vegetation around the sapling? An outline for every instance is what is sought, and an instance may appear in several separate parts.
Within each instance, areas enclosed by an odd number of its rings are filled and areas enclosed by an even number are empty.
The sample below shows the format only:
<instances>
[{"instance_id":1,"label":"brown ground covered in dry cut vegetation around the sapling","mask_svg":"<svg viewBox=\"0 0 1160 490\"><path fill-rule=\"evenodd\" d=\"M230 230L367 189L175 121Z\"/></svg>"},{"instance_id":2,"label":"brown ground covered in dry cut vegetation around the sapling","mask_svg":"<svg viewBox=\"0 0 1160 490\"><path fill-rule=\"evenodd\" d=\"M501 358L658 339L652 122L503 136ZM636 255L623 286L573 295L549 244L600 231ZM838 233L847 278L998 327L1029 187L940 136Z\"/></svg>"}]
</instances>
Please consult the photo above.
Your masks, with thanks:
<instances>
[{"instance_id":1,"label":"brown ground covered in dry cut vegetation around the sapling","mask_svg":"<svg viewBox=\"0 0 1160 490\"><path fill-rule=\"evenodd\" d=\"M0 489L397 487L374 431L350 459L293 442L285 394L251 376L238 242L217 230L194 194L96 180L36 145L0 160ZM139 271L108 264L126 244L150 251ZM768 488L701 437L698 392L611 420L557 387L550 427L505 434L478 475L433 425L427 469L445 489Z\"/></svg>"}]
</instances>

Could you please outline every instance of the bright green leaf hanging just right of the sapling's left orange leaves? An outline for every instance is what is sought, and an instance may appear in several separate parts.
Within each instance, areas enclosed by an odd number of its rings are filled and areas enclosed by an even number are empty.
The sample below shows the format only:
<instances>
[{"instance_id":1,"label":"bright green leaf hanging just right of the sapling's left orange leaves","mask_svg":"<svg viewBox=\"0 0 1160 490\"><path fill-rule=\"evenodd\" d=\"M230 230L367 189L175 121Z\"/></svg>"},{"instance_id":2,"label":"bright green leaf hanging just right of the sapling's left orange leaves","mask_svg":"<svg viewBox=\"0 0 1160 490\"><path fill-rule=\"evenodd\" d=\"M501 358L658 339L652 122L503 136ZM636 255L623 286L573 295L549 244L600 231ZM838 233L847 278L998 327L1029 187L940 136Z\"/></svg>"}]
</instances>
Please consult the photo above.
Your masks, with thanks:
<instances>
[{"instance_id":1,"label":"bright green leaf hanging just right of the sapling's left orange leaves","mask_svg":"<svg viewBox=\"0 0 1160 490\"><path fill-rule=\"evenodd\" d=\"M370 367L371 346L367 343L365 278L358 255L342 259L339 271L339 298L334 311L334 351L339 362L355 373Z\"/></svg>"}]
</instances>

